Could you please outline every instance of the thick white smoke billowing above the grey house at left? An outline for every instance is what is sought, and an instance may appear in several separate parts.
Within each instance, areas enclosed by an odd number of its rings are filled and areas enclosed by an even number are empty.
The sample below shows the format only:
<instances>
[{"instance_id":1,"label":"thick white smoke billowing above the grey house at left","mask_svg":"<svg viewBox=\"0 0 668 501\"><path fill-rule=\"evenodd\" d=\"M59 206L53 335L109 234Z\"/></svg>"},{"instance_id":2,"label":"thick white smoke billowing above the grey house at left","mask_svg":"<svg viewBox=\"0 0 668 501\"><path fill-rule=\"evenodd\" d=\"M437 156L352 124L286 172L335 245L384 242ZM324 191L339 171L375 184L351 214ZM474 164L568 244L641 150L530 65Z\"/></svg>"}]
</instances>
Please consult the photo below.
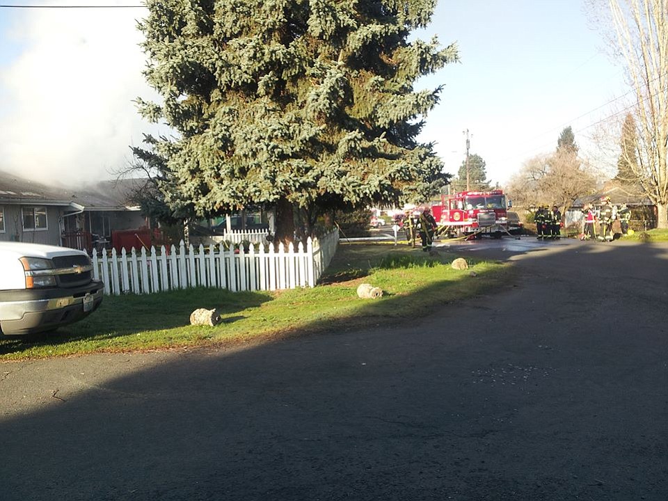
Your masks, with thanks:
<instances>
[{"instance_id":1,"label":"thick white smoke billowing above the grey house at left","mask_svg":"<svg viewBox=\"0 0 668 501\"><path fill-rule=\"evenodd\" d=\"M136 21L145 15L144 8L3 10L11 53L0 54L0 170L80 185L127 168L129 145L152 128L133 102L155 99L141 74Z\"/></svg>"}]
</instances>

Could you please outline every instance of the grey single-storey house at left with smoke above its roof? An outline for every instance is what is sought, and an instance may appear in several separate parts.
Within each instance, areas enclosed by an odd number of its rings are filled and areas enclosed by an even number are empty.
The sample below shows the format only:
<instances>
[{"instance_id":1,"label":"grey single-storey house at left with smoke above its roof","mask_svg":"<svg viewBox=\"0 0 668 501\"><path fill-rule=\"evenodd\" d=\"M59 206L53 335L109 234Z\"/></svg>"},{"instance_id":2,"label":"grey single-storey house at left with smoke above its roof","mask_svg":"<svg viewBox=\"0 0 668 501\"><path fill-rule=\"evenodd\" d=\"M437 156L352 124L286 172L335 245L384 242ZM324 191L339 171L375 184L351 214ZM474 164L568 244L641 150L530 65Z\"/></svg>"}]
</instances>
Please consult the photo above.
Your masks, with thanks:
<instances>
[{"instance_id":1,"label":"grey single-storey house at left with smoke above its roof","mask_svg":"<svg viewBox=\"0 0 668 501\"><path fill-rule=\"evenodd\" d=\"M93 250L109 247L122 231L146 230L149 221L129 202L146 180L94 186L49 186L0 172L0 241L29 241ZM139 246L139 245L137 245Z\"/></svg>"}]
</instances>

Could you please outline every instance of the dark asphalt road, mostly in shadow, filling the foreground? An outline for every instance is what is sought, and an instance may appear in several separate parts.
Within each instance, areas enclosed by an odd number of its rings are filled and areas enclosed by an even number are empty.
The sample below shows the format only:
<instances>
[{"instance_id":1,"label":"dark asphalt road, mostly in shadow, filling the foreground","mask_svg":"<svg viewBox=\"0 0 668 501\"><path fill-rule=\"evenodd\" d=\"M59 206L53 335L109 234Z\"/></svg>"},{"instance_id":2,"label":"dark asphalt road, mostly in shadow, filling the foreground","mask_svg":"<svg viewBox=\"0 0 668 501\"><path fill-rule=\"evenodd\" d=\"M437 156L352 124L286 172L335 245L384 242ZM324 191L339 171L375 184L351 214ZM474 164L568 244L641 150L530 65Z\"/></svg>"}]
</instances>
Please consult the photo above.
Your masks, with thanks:
<instances>
[{"instance_id":1,"label":"dark asphalt road, mostly in shadow, filling the foreground","mask_svg":"<svg viewBox=\"0 0 668 501\"><path fill-rule=\"evenodd\" d=\"M668 245L450 250L518 281L372 331L1 364L0 500L667 500Z\"/></svg>"}]
</instances>

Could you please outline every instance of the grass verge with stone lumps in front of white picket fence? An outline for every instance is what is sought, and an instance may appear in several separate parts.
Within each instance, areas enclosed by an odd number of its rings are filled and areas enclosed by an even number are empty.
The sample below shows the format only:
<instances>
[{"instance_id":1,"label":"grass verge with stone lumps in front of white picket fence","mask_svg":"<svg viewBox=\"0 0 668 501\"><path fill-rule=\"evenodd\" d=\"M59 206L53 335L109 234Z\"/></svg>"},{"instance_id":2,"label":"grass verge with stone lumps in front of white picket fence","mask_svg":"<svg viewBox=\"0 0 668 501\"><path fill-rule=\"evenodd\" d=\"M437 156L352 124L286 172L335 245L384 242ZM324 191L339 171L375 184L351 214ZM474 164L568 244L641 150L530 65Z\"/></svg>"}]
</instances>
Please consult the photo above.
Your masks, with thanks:
<instances>
[{"instance_id":1,"label":"grass verge with stone lumps in front of white picket fence","mask_svg":"<svg viewBox=\"0 0 668 501\"><path fill-rule=\"evenodd\" d=\"M281 292L187 289L151 295L106 296L86 319L49 334L1 337L0 360L73 356L104 351L267 342L319 331L396 324L507 283L513 270L473 262L457 271L447 253L427 255L408 246L342 244L321 285ZM471 276L470 271L475 271ZM358 299L360 283L383 289ZM223 323L191 326L196 308L218 308Z\"/></svg>"}]
</instances>

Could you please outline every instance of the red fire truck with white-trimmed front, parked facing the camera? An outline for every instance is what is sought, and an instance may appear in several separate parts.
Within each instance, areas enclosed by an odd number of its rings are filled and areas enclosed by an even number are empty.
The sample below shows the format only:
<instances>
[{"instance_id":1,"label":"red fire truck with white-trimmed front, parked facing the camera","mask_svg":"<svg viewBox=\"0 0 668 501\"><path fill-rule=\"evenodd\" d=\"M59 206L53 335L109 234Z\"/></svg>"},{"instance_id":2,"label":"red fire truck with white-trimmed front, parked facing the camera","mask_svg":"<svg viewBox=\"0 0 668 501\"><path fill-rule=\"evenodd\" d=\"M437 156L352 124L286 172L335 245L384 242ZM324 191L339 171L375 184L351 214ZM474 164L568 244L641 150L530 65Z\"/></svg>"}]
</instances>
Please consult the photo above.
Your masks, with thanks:
<instances>
[{"instance_id":1,"label":"red fire truck with white-trimmed front, parked facing the camera","mask_svg":"<svg viewBox=\"0 0 668 501\"><path fill-rule=\"evenodd\" d=\"M488 234L501 238L508 233L506 196L503 190L460 191L441 197L432 205L440 232L452 237Z\"/></svg>"}]
</instances>

